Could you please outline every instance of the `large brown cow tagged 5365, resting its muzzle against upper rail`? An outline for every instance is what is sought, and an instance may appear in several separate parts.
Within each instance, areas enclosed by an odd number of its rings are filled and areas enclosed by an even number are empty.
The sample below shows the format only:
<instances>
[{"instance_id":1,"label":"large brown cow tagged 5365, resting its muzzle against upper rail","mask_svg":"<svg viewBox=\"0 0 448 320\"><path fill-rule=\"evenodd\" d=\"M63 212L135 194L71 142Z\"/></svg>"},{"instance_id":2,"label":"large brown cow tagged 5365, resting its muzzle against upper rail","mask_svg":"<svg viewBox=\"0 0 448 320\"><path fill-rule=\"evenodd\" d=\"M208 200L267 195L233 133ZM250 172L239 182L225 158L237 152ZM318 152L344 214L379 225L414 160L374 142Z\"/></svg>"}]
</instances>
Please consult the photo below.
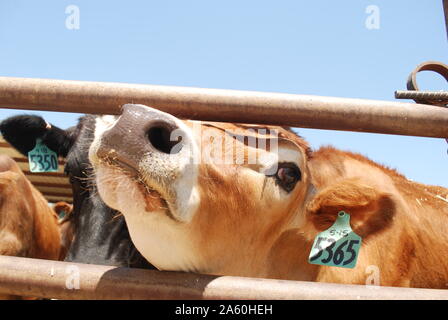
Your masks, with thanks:
<instances>
[{"instance_id":1,"label":"large brown cow tagged 5365, resting its muzzle against upper rail","mask_svg":"<svg viewBox=\"0 0 448 320\"><path fill-rule=\"evenodd\" d=\"M378 270L385 286L448 287L448 190L361 155L312 152L280 127L125 105L98 118L90 160L103 200L161 270L346 284ZM341 210L363 239L356 267L310 264L314 238Z\"/></svg>"}]
</instances>

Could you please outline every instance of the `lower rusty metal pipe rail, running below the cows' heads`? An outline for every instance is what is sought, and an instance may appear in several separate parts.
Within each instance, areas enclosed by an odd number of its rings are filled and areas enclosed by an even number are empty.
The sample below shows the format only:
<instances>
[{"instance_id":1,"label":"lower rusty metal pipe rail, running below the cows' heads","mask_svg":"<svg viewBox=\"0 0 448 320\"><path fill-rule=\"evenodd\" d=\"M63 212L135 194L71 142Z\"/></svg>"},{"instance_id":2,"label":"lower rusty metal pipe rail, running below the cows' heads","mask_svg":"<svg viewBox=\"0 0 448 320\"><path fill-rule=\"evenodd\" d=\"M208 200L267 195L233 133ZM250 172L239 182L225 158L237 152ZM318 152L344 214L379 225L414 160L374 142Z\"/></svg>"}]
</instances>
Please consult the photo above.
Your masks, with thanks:
<instances>
[{"instance_id":1,"label":"lower rusty metal pipe rail, running below the cows' heads","mask_svg":"<svg viewBox=\"0 0 448 320\"><path fill-rule=\"evenodd\" d=\"M219 277L7 256L0 256L0 293L108 300L448 300L448 290Z\"/></svg>"}]
</instances>

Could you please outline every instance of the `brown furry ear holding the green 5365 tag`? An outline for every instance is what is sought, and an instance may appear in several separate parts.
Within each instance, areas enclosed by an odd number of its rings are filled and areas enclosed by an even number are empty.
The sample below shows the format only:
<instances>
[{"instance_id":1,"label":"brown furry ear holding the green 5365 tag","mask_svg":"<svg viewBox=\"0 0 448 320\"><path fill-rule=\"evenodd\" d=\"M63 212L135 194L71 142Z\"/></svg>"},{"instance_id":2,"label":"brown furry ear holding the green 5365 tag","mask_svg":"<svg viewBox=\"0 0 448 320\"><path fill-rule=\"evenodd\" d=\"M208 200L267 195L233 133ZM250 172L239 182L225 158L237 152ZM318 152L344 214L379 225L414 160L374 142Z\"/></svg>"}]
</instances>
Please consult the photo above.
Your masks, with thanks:
<instances>
[{"instance_id":1,"label":"brown furry ear holding the green 5365 tag","mask_svg":"<svg viewBox=\"0 0 448 320\"><path fill-rule=\"evenodd\" d=\"M375 234L392 223L395 202L375 186L359 179L346 179L319 190L306 207L307 222L315 230L328 229L338 213L350 214L350 224L362 238Z\"/></svg>"}]
</instances>

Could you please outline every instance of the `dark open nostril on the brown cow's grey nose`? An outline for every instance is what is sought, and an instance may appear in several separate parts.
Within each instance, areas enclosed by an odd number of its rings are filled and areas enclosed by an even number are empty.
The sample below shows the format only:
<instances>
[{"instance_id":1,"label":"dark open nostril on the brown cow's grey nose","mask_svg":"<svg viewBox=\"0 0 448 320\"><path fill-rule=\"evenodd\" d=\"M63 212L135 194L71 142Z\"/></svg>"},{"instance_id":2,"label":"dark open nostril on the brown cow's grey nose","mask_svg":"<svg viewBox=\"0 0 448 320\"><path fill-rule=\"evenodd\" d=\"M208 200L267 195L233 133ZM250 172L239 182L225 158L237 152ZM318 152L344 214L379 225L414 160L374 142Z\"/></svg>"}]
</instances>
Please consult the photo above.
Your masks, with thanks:
<instances>
[{"instance_id":1,"label":"dark open nostril on the brown cow's grey nose","mask_svg":"<svg viewBox=\"0 0 448 320\"><path fill-rule=\"evenodd\" d=\"M182 137L174 133L176 129L164 125L156 125L148 130L148 140L160 152L178 153L182 149Z\"/></svg>"}]
</instances>

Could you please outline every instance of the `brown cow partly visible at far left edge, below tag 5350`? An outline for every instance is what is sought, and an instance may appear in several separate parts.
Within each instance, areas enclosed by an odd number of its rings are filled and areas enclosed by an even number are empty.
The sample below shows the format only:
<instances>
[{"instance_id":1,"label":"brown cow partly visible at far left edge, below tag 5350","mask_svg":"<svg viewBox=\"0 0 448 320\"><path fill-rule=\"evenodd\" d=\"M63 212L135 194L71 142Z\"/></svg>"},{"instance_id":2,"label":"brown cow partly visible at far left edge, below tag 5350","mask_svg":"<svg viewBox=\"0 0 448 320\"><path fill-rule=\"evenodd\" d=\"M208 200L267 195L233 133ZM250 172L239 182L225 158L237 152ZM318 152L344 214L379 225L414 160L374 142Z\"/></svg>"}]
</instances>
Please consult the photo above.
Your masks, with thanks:
<instances>
[{"instance_id":1,"label":"brown cow partly visible at far left edge, below tag 5350","mask_svg":"<svg viewBox=\"0 0 448 320\"><path fill-rule=\"evenodd\" d=\"M0 255L58 260L59 254L56 213L17 163L0 155Z\"/></svg>"}]
</instances>

